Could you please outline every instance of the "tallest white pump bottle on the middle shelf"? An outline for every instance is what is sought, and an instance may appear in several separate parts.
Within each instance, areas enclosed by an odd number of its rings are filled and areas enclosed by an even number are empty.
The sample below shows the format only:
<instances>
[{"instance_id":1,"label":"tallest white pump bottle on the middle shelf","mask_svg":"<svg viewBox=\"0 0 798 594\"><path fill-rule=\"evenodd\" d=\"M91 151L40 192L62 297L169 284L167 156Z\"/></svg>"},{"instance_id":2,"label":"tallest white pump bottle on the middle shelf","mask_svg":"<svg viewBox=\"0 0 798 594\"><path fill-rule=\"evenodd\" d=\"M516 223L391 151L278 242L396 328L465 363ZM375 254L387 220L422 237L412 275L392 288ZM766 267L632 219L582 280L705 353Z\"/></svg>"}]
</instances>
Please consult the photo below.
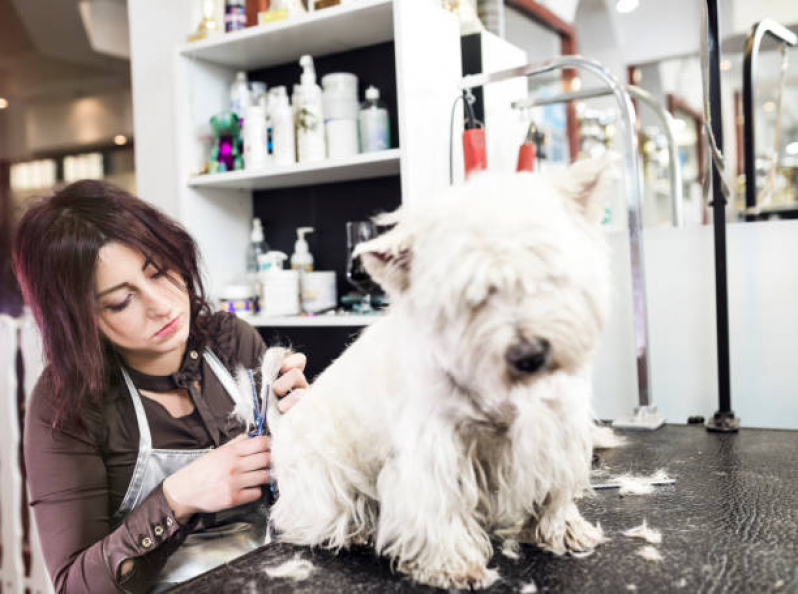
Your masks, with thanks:
<instances>
[{"instance_id":1,"label":"tallest white pump bottle on the middle shelf","mask_svg":"<svg viewBox=\"0 0 798 594\"><path fill-rule=\"evenodd\" d=\"M322 161L326 155L324 143L324 108L321 87L316 84L313 58L304 55L299 59L302 66L297 110L297 153L300 163Z\"/></svg>"}]
</instances>

